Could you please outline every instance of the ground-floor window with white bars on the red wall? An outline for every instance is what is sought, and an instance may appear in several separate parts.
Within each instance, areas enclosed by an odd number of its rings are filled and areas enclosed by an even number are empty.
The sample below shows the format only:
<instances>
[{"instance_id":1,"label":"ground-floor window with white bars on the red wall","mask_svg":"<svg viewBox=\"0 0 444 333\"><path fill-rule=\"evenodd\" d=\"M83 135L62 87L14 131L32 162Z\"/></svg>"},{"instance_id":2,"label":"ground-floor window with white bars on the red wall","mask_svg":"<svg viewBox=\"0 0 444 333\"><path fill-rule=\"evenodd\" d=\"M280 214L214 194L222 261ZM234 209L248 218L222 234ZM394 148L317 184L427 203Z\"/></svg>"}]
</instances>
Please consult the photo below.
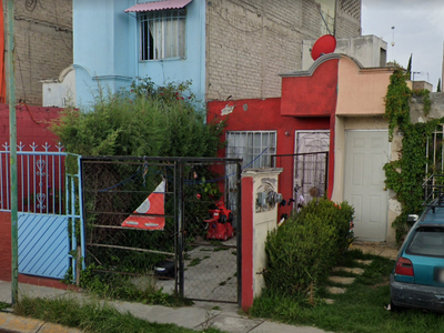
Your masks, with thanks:
<instances>
[{"instance_id":1,"label":"ground-floor window with white bars on the red wall","mask_svg":"<svg viewBox=\"0 0 444 333\"><path fill-rule=\"evenodd\" d=\"M243 168L271 167L276 153L276 132L228 132L226 157L243 159Z\"/></svg>"}]
</instances>

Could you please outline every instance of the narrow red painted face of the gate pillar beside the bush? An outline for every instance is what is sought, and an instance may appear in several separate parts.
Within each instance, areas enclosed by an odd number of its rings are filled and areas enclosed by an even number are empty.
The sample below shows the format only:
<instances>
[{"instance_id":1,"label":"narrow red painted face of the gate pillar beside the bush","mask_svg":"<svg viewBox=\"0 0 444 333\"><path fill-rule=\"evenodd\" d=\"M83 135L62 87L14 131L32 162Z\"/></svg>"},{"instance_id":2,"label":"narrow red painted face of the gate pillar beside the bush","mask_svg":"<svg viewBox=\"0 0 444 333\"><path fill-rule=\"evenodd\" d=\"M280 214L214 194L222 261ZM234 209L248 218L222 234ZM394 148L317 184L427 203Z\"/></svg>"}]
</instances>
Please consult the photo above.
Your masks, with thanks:
<instances>
[{"instance_id":1,"label":"narrow red painted face of the gate pillar beside the bush","mask_svg":"<svg viewBox=\"0 0 444 333\"><path fill-rule=\"evenodd\" d=\"M253 305L253 179L242 178L242 290L241 306Z\"/></svg>"}]
</instances>

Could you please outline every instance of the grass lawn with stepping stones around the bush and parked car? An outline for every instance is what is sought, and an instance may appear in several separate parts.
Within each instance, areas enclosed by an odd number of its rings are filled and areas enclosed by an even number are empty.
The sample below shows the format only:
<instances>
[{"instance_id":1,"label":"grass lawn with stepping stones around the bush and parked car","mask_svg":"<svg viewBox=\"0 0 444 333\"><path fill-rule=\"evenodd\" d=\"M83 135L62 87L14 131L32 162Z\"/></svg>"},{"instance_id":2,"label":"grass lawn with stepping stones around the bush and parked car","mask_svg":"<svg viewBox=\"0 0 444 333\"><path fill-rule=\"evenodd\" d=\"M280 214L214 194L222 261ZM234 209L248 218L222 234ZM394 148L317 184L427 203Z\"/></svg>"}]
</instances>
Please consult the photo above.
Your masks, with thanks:
<instances>
[{"instance_id":1,"label":"grass lawn with stepping stones around the bush and parked car","mask_svg":"<svg viewBox=\"0 0 444 333\"><path fill-rule=\"evenodd\" d=\"M350 253L349 253L350 252ZM444 316L421 310L401 312L386 311L390 303L390 272L394 261L376 255L347 251L353 260L373 260L364 266L365 272L357 276L344 294L329 294L324 286L317 286L315 305L310 305L306 297L289 296L265 290L254 301L250 315L272 319L295 325L315 325L330 332L391 332L391 333L438 333L444 326ZM352 260L352 261L353 261ZM343 266L355 266L350 258L344 258ZM344 264L351 263L350 265ZM334 300L333 305L323 299Z\"/></svg>"}]
</instances>

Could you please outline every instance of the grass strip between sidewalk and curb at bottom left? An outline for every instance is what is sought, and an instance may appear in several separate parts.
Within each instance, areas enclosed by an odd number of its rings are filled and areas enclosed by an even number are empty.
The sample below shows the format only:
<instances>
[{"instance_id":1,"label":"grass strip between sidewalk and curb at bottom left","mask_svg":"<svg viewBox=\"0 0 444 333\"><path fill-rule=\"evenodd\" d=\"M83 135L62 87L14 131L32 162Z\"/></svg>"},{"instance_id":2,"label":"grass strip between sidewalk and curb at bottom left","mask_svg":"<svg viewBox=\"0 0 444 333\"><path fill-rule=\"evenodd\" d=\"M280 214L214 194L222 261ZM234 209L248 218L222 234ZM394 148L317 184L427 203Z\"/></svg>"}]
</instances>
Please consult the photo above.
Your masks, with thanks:
<instances>
[{"instance_id":1,"label":"grass strip between sidewalk and curb at bottom left","mask_svg":"<svg viewBox=\"0 0 444 333\"><path fill-rule=\"evenodd\" d=\"M174 324L147 322L134 317L130 313L122 314L107 303L100 304L92 301L80 303L73 299L43 300L22 297L14 306L14 314L95 333L195 332ZM208 329L205 332L221 333L222 331Z\"/></svg>"}]
</instances>

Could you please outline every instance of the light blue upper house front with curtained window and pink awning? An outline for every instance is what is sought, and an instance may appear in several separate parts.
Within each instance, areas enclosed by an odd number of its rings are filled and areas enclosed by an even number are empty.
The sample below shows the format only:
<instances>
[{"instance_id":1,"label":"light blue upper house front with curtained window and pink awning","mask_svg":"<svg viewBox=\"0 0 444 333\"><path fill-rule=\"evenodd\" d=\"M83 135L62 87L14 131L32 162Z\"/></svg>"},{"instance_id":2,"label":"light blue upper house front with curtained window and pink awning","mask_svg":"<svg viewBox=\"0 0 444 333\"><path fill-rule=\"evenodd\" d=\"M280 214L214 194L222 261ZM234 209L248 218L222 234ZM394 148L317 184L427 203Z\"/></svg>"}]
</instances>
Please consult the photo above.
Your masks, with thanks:
<instances>
[{"instance_id":1,"label":"light blue upper house front with curtained window and pink awning","mask_svg":"<svg viewBox=\"0 0 444 333\"><path fill-rule=\"evenodd\" d=\"M204 94L205 1L74 0L77 104L99 90L117 92L137 78L157 84L192 81Z\"/></svg>"}]
</instances>

